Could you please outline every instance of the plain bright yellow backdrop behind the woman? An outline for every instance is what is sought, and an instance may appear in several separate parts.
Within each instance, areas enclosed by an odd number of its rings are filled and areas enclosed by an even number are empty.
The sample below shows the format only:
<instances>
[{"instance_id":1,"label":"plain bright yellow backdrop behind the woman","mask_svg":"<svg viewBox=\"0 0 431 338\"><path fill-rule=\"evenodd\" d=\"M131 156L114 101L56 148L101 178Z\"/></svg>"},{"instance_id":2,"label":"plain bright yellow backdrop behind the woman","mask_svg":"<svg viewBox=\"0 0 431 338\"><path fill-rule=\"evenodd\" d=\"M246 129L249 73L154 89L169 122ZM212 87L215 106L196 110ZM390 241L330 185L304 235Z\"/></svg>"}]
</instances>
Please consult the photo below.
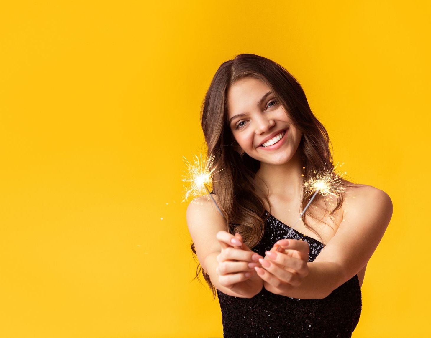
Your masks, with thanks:
<instances>
[{"instance_id":1,"label":"plain bright yellow backdrop behind the woman","mask_svg":"<svg viewBox=\"0 0 431 338\"><path fill-rule=\"evenodd\" d=\"M215 71L251 52L300 81L335 162L394 203L353 337L428 337L430 13L415 0L3 3L0 336L222 337L217 299L191 281L182 156L205 150Z\"/></svg>"}]
</instances>

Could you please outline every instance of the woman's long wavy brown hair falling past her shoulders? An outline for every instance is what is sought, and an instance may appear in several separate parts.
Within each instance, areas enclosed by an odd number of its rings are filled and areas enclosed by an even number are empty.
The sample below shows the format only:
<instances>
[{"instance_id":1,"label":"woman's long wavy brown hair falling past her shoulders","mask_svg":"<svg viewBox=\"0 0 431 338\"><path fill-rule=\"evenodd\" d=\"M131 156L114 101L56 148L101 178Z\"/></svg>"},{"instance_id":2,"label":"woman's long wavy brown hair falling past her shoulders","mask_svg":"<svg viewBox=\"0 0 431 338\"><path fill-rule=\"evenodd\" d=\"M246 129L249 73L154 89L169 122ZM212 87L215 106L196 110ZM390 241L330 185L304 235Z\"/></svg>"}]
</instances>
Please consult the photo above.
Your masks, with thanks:
<instances>
[{"instance_id":1,"label":"woman's long wavy brown hair falling past her shoulders","mask_svg":"<svg viewBox=\"0 0 431 338\"><path fill-rule=\"evenodd\" d=\"M217 196L218 206L226 220L226 231L231 234L239 232L244 244L253 248L263 237L265 221L268 217L265 217L264 201L256 194L259 188L254 181L260 161L246 153L241 159L238 152L234 150L233 144L236 141L228 125L227 112L228 90L244 77L262 80L272 90L278 103L287 111L294 126L302 132L298 151L300 151L303 166L307 168L304 172L304 180L308 180L314 171L331 170L334 166L329 150L328 132L312 113L300 83L286 69L268 58L254 54L239 54L233 60L222 63L206 92L201 110L201 125L208 147L207 158L214 158L212 165L217 173L212 177L212 187ZM344 184L345 181L341 180L341 182ZM331 218L343 203L343 194L340 193L339 197L337 205L329 212ZM311 194L303 191L301 210L305 208L310 198ZM269 200L266 197L265 200L270 214ZM306 214L312 217L312 206L317 204L318 200L319 197L316 196L302 219L304 225L322 240L322 237L305 221ZM193 241L191 250L196 256ZM200 270L215 299L215 287L200 264L194 278L198 277Z\"/></svg>"}]
</instances>

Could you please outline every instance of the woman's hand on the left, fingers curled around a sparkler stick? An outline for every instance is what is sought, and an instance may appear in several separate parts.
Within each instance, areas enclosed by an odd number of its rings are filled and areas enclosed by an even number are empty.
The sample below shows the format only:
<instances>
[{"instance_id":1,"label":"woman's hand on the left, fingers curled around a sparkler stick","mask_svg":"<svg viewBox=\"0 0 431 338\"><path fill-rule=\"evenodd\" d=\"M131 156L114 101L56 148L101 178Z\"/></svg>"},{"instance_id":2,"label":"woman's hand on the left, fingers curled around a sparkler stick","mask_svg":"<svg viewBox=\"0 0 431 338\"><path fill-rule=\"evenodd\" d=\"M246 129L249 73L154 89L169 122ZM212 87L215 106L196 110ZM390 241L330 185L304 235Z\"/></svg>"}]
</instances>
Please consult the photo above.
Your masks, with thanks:
<instances>
[{"instance_id":1,"label":"woman's hand on the left, fingers curled around a sparkler stick","mask_svg":"<svg viewBox=\"0 0 431 338\"><path fill-rule=\"evenodd\" d=\"M264 281L254 267L262 267L259 258L263 257L248 248L239 233L234 236L222 230L216 238L222 247L222 252L217 256L219 264L215 269L219 283L241 295L258 294Z\"/></svg>"}]
</instances>

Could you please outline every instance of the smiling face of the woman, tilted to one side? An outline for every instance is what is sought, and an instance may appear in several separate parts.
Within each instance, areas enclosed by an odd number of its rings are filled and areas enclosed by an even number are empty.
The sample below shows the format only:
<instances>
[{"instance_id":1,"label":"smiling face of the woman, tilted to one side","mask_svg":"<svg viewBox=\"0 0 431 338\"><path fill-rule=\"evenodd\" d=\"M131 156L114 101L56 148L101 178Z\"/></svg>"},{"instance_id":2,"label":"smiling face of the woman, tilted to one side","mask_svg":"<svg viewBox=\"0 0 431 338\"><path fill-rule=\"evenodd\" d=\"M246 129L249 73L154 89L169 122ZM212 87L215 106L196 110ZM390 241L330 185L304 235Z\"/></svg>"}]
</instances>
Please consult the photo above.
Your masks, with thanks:
<instances>
[{"instance_id":1,"label":"smiling face of the woman, tilted to one side","mask_svg":"<svg viewBox=\"0 0 431 338\"><path fill-rule=\"evenodd\" d=\"M245 151L263 163L284 164L294 156L302 134L274 95L266 95L269 91L265 83L253 77L245 77L231 86L227 97L228 126L237 142L236 151ZM270 145L274 141L277 142Z\"/></svg>"}]
</instances>

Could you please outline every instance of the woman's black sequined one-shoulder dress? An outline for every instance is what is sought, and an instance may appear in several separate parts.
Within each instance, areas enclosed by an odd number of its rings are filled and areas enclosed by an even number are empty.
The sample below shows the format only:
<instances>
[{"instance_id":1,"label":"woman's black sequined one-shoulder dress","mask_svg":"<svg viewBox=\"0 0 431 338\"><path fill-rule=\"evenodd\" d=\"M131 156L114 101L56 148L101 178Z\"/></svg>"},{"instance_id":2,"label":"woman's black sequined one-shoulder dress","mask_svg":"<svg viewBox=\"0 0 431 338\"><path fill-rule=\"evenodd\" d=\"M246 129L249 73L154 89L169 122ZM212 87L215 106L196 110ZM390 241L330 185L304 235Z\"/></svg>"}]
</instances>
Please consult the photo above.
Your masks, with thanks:
<instances>
[{"instance_id":1,"label":"woman's black sequined one-shoulder dress","mask_svg":"<svg viewBox=\"0 0 431 338\"><path fill-rule=\"evenodd\" d=\"M266 216L264 236L251 249L262 257L291 229L269 212ZM314 261L324 247L323 243L296 230L287 238L309 243L309 262ZM362 310L357 275L323 299L286 297L265 288L253 298L226 295L218 289L217 296L226 338L351 337Z\"/></svg>"}]
</instances>

